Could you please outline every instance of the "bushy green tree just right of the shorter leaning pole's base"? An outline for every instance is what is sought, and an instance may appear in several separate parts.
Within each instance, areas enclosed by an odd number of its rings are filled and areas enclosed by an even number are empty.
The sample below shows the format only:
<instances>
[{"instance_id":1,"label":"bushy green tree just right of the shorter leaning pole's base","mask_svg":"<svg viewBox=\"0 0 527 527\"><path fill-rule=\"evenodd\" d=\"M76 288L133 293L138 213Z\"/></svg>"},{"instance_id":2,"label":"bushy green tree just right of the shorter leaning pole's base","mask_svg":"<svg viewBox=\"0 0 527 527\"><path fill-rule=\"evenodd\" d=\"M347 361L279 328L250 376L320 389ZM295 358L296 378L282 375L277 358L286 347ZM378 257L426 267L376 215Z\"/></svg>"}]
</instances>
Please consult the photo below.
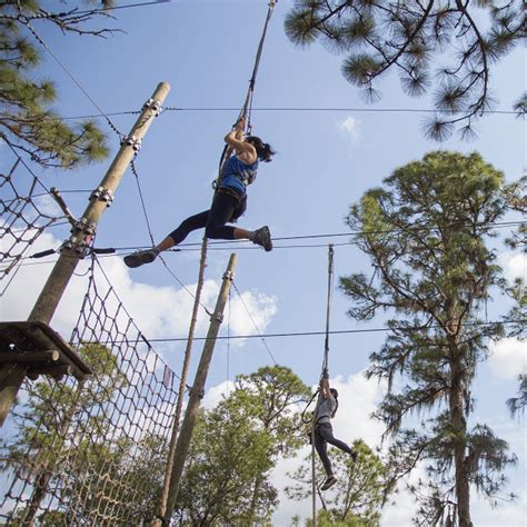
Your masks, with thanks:
<instances>
[{"instance_id":1,"label":"bushy green tree just right of the shorter leaning pole's base","mask_svg":"<svg viewBox=\"0 0 527 527\"><path fill-rule=\"evenodd\" d=\"M262 430L237 419L228 407L202 410L178 494L177 517L192 525L248 525L251 484L271 467L269 444ZM275 488L265 481L256 504L258 516L268 517L276 501Z\"/></svg>"}]
</instances>

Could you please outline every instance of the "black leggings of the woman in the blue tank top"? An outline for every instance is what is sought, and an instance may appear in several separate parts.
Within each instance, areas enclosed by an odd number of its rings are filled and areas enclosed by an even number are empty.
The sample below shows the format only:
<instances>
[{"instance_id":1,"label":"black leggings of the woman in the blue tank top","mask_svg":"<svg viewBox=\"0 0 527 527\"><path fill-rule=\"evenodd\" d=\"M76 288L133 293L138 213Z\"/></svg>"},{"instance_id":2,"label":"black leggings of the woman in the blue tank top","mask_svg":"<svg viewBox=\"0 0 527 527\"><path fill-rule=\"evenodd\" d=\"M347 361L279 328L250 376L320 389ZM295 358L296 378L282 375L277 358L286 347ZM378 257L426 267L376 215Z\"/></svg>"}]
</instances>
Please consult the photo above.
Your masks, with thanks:
<instances>
[{"instance_id":1,"label":"black leggings of the woman in the blue tank top","mask_svg":"<svg viewBox=\"0 0 527 527\"><path fill-rule=\"evenodd\" d=\"M239 202L239 198L218 191L209 210L190 216L168 236L172 238L175 245L178 245L187 238L189 232L205 227L205 236L207 238L233 240L235 228L226 226L226 223L232 218Z\"/></svg>"}]
</instances>

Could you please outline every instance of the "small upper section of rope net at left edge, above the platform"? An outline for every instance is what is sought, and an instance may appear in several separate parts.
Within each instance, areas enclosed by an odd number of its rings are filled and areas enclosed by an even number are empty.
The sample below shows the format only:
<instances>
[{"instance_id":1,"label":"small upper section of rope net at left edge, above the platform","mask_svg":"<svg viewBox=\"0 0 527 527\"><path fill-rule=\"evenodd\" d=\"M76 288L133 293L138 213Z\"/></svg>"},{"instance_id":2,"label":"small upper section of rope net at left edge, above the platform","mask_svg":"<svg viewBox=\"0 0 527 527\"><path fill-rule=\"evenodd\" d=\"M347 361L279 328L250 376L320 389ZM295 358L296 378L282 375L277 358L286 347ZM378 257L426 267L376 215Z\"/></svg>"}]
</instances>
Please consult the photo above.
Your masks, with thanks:
<instances>
[{"instance_id":1,"label":"small upper section of rope net at left edge, above the platform","mask_svg":"<svg viewBox=\"0 0 527 527\"><path fill-rule=\"evenodd\" d=\"M20 157L6 172L0 171L0 296L37 238L53 223L68 222Z\"/></svg>"}]
</instances>

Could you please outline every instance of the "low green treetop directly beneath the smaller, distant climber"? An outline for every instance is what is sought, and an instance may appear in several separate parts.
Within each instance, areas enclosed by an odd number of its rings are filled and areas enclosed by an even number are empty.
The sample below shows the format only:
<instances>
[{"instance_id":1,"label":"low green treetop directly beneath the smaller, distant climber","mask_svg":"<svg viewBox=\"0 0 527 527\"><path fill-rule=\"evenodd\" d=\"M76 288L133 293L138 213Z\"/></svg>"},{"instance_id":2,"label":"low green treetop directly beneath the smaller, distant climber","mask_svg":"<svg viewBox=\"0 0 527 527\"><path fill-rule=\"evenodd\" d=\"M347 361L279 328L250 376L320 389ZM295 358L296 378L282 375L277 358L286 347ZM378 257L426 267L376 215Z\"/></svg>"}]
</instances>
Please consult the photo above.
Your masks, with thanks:
<instances>
[{"instance_id":1,"label":"low green treetop directly beneath the smaller, distant climber","mask_svg":"<svg viewBox=\"0 0 527 527\"><path fill-rule=\"evenodd\" d=\"M379 525L380 509L391 491L388 467L361 439L356 440L352 448L358 454L355 463L349 454L341 450L334 449L330 454L337 484L324 494L325 514L319 518L322 521L320 525ZM289 476L296 481L286 488L290 499L302 500L310 496L311 456L307 456L304 465ZM317 481L324 481L325 477L322 464L317 457Z\"/></svg>"}]
</instances>

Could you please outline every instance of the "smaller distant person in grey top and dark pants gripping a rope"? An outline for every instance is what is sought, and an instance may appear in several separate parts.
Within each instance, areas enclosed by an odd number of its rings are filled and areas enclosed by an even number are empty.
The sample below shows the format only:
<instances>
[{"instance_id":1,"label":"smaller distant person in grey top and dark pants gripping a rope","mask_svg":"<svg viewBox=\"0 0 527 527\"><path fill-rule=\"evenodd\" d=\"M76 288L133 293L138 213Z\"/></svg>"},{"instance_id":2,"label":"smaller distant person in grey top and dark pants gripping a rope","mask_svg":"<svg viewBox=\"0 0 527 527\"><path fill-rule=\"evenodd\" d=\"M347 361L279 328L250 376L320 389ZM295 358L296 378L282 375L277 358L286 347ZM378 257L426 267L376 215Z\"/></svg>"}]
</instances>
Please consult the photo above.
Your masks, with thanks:
<instances>
[{"instance_id":1,"label":"smaller distant person in grey top and dark pants gripping a rope","mask_svg":"<svg viewBox=\"0 0 527 527\"><path fill-rule=\"evenodd\" d=\"M324 469L326 470L327 475L327 478L322 483L320 489L327 490L337 483L337 478L332 471L331 461L328 457L328 443L351 455L354 461L357 460L357 453L346 445L346 443L334 437L331 419L335 417L338 408L338 391L335 388L329 387L329 375L326 369L324 370L322 380L320 381L320 396L322 400L318 406L315 418L314 435L315 449L322 461Z\"/></svg>"}]
</instances>

